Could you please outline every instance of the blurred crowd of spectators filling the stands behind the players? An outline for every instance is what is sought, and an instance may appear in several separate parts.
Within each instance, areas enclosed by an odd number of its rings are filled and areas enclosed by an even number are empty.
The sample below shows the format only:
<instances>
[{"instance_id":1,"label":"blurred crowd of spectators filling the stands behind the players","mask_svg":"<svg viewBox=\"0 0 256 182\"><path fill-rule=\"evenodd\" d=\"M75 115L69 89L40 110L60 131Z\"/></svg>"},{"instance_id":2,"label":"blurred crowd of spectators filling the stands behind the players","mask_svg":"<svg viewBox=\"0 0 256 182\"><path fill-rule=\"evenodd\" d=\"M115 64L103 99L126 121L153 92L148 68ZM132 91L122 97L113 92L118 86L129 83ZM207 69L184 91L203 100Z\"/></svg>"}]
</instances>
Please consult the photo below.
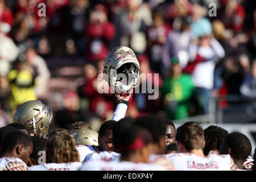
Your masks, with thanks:
<instances>
[{"instance_id":1,"label":"blurred crowd of spectators filling the stands behind the players","mask_svg":"<svg viewBox=\"0 0 256 182\"><path fill-rule=\"evenodd\" d=\"M159 73L147 77L158 82L159 98L135 93L127 117L182 119L208 114L213 97L255 98L255 7L253 0L0 0L0 127L23 102L46 100L52 127L86 121L97 131L115 108L113 94L97 92L97 76L116 46L133 49L140 73ZM84 75L46 97L56 57L82 59Z\"/></svg>"}]
</instances>

